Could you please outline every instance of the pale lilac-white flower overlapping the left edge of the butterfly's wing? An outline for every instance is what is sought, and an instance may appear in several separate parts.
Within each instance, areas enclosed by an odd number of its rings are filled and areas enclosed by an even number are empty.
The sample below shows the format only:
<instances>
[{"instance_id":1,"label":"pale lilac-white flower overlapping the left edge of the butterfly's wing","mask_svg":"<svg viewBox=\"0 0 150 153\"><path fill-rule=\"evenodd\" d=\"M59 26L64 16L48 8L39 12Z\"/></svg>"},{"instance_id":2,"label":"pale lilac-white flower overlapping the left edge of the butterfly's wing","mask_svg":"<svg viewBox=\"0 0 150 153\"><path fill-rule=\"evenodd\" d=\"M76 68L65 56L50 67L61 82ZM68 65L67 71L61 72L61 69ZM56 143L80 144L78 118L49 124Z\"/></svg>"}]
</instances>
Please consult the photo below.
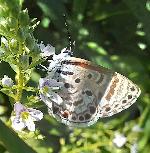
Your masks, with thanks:
<instances>
[{"instance_id":1,"label":"pale lilac-white flower overlapping the left edge of the butterfly's wing","mask_svg":"<svg viewBox=\"0 0 150 153\"><path fill-rule=\"evenodd\" d=\"M62 82L57 82L54 79L40 78L39 88L40 88L40 98L48 106L51 107L51 102L55 102L60 105L63 100L54 91L59 90L63 87Z\"/></svg>"}]
</instances>

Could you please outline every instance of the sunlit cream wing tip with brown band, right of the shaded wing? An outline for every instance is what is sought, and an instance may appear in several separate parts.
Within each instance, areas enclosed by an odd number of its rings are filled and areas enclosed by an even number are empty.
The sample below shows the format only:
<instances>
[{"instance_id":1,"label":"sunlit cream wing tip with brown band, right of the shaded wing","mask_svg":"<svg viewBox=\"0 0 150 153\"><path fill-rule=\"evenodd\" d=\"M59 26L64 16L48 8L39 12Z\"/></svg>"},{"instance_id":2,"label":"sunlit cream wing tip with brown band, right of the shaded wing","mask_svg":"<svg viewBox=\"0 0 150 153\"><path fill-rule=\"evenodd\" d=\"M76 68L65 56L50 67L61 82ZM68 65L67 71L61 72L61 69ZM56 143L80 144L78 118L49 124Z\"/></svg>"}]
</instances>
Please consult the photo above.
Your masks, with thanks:
<instances>
[{"instance_id":1,"label":"sunlit cream wing tip with brown band, right of the shaded wing","mask_svg":"<svg viewBox=\"0 0 150 153\"><path fill-rule=\"evenodd\" d=\"M140 89L132 81L115 72L101 100L100 117L109 117L129 108L140 93Z\"/></svg>"}]
</instances>

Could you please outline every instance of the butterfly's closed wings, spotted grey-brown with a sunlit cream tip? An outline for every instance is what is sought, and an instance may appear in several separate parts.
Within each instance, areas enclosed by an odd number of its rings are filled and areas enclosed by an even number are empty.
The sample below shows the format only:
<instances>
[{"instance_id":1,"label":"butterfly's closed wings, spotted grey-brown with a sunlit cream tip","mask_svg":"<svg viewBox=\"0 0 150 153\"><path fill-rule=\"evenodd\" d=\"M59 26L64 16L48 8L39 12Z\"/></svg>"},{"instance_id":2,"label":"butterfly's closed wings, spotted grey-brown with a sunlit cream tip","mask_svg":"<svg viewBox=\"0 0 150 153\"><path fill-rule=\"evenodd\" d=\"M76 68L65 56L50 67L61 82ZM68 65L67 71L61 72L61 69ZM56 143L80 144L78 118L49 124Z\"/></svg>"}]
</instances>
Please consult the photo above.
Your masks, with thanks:
<instances>
[{"instance_id":1,"label":"butterfly's closed wings, spotted grey-brown with a sunlit cream tip","mask_svg":"<svg viewBox=\"0 0 150 153\"><path fill-rule=\"evenodd\" d=\"M126 77L75 57L63 61L61 73L54 78L64 82L58 92L63 103L53 103L49 113L69 126L92 125L130 107L140 95Z\"/></svg>"}]
</instances>

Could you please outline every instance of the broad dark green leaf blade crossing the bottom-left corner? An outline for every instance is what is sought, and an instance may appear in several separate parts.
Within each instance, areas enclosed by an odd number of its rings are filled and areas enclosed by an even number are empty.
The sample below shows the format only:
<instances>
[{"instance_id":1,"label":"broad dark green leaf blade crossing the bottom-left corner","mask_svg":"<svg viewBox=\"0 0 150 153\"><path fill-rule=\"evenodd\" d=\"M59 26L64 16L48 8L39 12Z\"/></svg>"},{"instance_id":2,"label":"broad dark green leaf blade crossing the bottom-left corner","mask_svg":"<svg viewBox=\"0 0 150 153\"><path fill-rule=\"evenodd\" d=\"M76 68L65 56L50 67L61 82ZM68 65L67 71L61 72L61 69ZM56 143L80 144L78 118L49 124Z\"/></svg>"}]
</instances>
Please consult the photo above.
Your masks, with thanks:
<instances>
[{"instance_id":1,"label":"broad dark green leaf blade crossing the bottom-left corner","mask_svg":"<svg viewBox=\"0 0 150 153\"><path fill-rule=\"evenodd\" d=\"M36 153L0 120L0 140L10 153Z\"/></svg>"}]
</instances>

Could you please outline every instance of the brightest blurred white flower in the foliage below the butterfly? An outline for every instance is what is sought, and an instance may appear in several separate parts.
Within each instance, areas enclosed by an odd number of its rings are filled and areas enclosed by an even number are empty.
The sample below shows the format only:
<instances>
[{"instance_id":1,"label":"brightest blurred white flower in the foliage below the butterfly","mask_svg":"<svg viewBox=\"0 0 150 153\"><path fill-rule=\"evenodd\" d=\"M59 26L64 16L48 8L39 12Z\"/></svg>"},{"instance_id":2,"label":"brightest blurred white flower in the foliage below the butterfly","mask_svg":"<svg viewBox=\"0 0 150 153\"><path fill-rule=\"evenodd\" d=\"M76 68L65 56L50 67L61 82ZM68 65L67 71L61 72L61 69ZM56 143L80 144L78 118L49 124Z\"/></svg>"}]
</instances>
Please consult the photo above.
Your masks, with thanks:
<instances>
[{"instance_id":1,"label":"brightest blurred white flower in the foliage below the butterfly","mask_svg":"<svg viewBox=\"0 0 150 153\"><path fill-rule=\"evenodd\" d=\"M115 133L115 138L113 139L113 143L118 148L121 148L122 146L124 146L126 141L127 141L127 138L123 134Z\"/></svg>"}]
</instances>

